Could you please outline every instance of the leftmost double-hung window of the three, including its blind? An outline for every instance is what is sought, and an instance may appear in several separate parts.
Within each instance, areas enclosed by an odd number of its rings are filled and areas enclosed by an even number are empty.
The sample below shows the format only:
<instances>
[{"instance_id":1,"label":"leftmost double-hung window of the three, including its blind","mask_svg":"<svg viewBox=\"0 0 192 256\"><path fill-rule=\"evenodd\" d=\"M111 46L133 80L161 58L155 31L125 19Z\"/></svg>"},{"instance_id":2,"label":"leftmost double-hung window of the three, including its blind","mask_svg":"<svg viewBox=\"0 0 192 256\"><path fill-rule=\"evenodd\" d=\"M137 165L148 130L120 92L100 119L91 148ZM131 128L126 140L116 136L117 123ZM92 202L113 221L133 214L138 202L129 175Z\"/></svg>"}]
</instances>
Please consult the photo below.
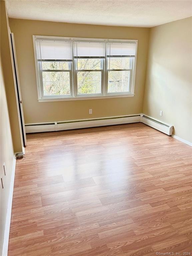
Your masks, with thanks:
<instances>
[{"instance_id":1,"label":"leftmost double-hung window of the three, including its blind","mask_svg":"<svg viewBox=\"0 0 192 256\"><path fill-rule=\"evenodd\" d=\"M72 96L72 41L36 40L41 97Z\"/></svg>"}]
</instances>

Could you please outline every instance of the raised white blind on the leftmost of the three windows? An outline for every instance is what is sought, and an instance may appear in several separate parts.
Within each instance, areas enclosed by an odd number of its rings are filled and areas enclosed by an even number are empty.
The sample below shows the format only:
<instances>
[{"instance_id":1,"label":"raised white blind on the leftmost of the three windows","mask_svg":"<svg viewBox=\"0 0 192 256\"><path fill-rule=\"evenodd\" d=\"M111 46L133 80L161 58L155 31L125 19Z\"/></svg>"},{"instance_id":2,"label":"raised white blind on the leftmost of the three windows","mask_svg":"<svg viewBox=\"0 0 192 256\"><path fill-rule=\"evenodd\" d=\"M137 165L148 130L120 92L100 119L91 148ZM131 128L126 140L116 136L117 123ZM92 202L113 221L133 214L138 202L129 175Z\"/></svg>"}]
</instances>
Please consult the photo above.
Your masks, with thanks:
<instances>
[{"instance_id":1,"label":"raised white blind on the leftmost of the three windows","mask_svg":"<svg viewBox=\"0 0 192 256\"><path fill-rule=\"evenodd\" d=\"M36 40L38 60L72 61L72 42L61 40Z\"/></svg>"}]
</instances>

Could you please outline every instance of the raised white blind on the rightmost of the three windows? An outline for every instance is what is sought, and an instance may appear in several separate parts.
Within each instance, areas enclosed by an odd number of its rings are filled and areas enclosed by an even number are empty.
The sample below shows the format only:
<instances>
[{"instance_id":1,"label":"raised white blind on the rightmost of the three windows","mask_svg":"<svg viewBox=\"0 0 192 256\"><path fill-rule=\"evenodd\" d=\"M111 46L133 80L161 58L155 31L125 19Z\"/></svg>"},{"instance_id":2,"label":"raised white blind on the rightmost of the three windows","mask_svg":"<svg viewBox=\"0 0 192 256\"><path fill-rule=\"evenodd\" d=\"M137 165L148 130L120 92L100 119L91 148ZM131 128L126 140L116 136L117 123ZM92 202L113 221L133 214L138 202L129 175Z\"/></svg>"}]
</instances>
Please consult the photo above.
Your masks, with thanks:
<instances>
[{"instance_id":1,"label":"raised white blind on the rightmost of the three windows","mask_svg":"<svg viewBox=\"0 0 192 256\"><path fill-rule=\"evenodd\" d=\"M136 54L136 44L131 43L107 43L107 57L134 57Z\"/></svg>"}]
</instances>

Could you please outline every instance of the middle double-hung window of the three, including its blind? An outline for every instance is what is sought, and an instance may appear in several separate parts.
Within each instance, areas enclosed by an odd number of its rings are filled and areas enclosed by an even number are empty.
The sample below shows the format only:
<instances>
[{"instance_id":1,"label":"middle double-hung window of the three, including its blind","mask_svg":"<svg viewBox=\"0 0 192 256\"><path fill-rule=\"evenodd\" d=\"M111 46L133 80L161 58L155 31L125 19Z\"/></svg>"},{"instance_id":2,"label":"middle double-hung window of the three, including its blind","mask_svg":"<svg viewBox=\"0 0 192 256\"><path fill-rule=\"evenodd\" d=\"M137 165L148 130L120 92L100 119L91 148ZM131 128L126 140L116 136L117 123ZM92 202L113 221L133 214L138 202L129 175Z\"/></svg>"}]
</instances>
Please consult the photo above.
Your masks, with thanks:
<instances>
[{"instance_id":1,"label":"middle double-hung window of the three, including its blind","mask_svg":"<svg viewBox=\"0 0 192 256\"><path fill-rule=\"evenodd\" d=\"M75 95L104 93L105 42L74 41Z\"/></svg>"}]
</instances>

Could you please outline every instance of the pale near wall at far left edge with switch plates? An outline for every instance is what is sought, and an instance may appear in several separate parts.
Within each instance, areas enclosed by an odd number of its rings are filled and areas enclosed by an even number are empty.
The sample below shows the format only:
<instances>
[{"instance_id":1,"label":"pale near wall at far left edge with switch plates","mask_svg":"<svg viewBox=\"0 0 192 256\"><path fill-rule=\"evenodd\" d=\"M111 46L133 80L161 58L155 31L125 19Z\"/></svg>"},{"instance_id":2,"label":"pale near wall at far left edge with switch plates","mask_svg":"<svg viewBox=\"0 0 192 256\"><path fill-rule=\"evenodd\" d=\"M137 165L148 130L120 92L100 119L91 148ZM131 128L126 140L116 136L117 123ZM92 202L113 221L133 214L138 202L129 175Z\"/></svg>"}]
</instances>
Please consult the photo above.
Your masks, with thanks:
<instances>
[{"instance_id":1,"label":"pale near wall at far left edge with switch plates","mask_svg":"<svg viewBox=\"0 0 192 256\"><path fill-rule=\"evenodd\" d=\"M1 18L3 17L3 7L0 5ZM4 16L5 17L5 16ZM2 21L2 20L1 20ZM2 24L1 24L2 25ZM2 26L1 26L2 27ZM2 30L0 30L2 32ZM1 45L2 46L2 45ZM0 49L2 52L2 48ZM5 93L5 82L2 73L0 58L0 178L3 178L4 189L0 182L0 255L2 255L5 223L8 208L9 188L13 170L13 143L11 138L11 127L7 108ZM6 176L4 175L3 164L5 163Z\"/></svg>"}]
</instances>

